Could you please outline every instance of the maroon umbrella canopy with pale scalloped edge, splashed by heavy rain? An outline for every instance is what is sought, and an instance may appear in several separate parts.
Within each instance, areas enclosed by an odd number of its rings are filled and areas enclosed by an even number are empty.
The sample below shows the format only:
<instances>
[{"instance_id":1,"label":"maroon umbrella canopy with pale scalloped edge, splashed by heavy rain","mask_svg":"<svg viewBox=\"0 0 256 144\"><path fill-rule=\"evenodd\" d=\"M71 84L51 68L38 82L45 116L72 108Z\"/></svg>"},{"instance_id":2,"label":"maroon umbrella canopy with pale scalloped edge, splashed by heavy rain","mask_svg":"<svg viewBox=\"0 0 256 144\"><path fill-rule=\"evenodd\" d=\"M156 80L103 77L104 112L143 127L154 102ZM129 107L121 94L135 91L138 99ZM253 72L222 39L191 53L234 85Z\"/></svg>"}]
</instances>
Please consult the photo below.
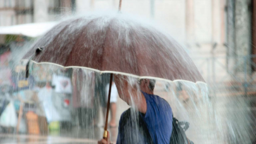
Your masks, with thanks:
<instances>
[{"instance_id":1,"label":"maroon umbrella canopy with pale scalloped edge, splashed by heavy rain","mask_svg":"<svg viewBox=\"0 0 256 144\"><path fill-rule=\"evenodd\" d=\"M34 56L37 47L44 49ZM120 13L63 21L39 39L24 58L30 57L37 63L204 82L192 59L173 38Z\"/></svg>"}]
</instances>

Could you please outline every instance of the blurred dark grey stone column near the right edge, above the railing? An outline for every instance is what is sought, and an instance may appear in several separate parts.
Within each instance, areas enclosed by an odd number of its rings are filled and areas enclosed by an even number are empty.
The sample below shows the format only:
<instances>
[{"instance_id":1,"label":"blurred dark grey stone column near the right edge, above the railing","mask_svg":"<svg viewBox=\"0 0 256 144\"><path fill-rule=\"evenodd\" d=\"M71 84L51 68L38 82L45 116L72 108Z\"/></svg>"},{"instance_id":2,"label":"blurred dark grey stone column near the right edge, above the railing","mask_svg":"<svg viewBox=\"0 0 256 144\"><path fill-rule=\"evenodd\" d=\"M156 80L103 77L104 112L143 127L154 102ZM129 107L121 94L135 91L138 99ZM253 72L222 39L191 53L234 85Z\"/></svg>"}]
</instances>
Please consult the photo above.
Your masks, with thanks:
<instances>
[{"instance_id":1,"label":"blurred dark grey stone column near the right edge, above the railing","mask_svg":"<svg viewBox=\"0 0 256 144\"><path fill-rule=\"evenodd\" d=\"M250 72L250 59L245 63L244 56L251 54L251 14L249 0L227 0L228 68L234 72ZM229 59L229 56L232 57ZM247 66L247 68L245 68ZM232 71L231 71L232 72Z\"/></svg>"}]
</instances>

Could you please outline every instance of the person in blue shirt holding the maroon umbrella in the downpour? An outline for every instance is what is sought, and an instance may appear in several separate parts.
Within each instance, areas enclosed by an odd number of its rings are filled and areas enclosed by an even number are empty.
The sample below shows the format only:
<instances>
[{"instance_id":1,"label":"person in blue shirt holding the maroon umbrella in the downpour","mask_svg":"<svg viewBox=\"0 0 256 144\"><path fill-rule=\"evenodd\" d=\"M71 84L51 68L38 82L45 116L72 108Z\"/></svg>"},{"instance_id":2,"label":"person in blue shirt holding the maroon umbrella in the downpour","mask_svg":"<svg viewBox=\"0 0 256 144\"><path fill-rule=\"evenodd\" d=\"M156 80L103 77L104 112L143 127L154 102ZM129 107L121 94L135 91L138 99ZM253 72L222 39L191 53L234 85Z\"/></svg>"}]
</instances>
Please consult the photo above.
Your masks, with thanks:
<instances>
[{"instance_id":1,"label":"person in blue shirt holding the maroon umbrella in the downpour","mask_svg":"<svg viewBox=\"0 0 256 144\"><path fill-rule=\"evenodd\" d=\"M166 100L154 95L155 80L142 79L131 85L126 76L114 75L114 81L119 97L135 107L139 119L145 124L142 127L147 129L151 137L135 128L133 119L127 116L130 112L128 109L121 115L116 143L169 143L173 129L173 112ZM111 143L109 138L107 140L102 139L98 143Z\"/></svg>"}]
</instances>

